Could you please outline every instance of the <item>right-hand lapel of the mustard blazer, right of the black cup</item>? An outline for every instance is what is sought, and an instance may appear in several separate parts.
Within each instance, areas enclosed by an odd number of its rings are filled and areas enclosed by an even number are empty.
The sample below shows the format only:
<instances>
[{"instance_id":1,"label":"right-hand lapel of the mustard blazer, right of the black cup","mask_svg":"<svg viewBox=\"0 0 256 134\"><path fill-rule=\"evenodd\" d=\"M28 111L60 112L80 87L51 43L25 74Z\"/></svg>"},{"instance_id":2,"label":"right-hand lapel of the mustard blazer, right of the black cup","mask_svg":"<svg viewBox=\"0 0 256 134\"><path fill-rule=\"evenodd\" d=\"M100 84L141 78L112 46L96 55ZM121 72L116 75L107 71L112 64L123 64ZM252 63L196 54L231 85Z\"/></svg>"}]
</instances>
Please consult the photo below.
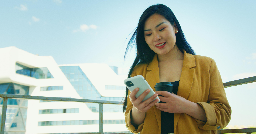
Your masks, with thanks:
<instances>
[{"instance_id":1,"label":"right-hand lapel of the mustard blazer, right of the black cup","mask_svg":"<svg viewBox=\"0 0 256 134\"><path fill-rule=\"evenodd\" d=\"M193 67L196 66L196 62L192 54L186 53L185 50L183 50L183 52L184 52L184 59L183 59L183 66L182 66L182 72L180 76L177 95L187 99L193 83L194 71L195 71ZM174 114L174 132L176 130L179 117L180 117L180 113Z\"/></svg>"}]
</instances>

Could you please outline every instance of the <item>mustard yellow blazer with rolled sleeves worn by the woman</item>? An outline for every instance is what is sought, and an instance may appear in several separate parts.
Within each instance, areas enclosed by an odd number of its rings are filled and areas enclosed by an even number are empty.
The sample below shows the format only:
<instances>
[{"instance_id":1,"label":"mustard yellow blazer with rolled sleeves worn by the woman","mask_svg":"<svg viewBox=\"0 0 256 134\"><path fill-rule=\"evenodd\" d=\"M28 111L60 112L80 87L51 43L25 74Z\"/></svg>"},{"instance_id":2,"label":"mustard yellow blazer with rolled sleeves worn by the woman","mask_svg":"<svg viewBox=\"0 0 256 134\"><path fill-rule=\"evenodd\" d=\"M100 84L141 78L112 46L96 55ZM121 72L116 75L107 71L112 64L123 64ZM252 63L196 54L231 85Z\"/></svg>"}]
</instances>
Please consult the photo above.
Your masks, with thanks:
<instances>
[{"instance_id":1,"label":"mustard yellow blazer with rolled sleeves worn by the woman","mask_svg":"<svg viewBox=\"0 0 256 134\"><path fill-rule=\"evenodd\" d=\"M159 82L157 55L149 64L135 66L132 77L142 75L155 91ZM146 112L144 123L136 129L131 124L130 112L133 107L128 92L125 112L126 127L133 133L160 134L161 111L154 105ZM175 134L217 134L218 129L226 127L231 118L231 107L228 103L220 73L213 59L192 55L184 50L183 67L177 95L200 104L205 110L207 122L197 120L185 113L174 114Z\"/></svg>"}]
</instances>

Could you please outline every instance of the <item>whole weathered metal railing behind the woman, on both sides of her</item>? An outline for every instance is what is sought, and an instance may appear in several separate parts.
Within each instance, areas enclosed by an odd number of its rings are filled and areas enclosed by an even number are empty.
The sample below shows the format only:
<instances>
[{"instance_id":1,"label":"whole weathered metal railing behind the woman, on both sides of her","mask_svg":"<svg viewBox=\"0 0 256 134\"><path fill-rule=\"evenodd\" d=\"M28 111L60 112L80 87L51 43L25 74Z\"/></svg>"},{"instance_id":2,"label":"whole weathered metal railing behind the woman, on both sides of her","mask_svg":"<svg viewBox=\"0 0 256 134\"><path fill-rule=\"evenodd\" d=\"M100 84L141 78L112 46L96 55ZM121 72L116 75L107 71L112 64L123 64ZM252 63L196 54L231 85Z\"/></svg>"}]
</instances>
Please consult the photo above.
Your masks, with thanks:
<instances>
[{"instance_id":1,"label":"whole weathered metal railing behind the woman, on both sides of her","mask_svg":"<svg viewBox=\"0 0 256 134\"><path fill-rule=\"evenodd\" d=\"M252 83L255 81L256 81L256 76L239 79L239 80L234 80L234 81L229 81L229 82L223 83L223 85L224 85L224 88L227 88L227 87L231 87L231 86ZM0 134L4 134L8 98L14 98L14 99L18 98L18 99L28 99L28 100L98 103L99 104L99 133L93 133L93 134L103 134L103 104L123 104L123 102L117 102L117 101L60 98L60 97L43 97L43 96L30 96L30 95L13 95L13 94L0 94L0 98L3 98ZM224 134L224 133L247 133L247 134L250 134L252 132L256 132L256 128L218 130L218 134Z\"/></svg>"}]
</instances>

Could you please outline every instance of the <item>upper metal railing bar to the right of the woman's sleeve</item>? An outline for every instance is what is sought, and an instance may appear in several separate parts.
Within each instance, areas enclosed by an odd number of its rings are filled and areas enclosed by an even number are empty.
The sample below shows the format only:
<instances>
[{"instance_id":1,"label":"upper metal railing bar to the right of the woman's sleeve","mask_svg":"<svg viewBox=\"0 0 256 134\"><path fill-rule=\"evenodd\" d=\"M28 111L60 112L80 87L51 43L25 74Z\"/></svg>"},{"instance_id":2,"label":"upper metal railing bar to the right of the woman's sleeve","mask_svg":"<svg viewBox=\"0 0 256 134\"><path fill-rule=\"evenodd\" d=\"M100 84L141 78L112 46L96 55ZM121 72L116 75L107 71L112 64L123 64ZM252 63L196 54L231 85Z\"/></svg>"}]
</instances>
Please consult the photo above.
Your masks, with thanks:
<instances>
[{"instance_id":1,"label":"upper metal railing bar to the right of the woman's sleeve","mask_svg":"<svg viewBox=\"0 0 256 134\"><path fill-rule=\"evenodd\" d=\"M223 83L224 88L256 82L256 76Z\"/></svg>"}]
</instances>

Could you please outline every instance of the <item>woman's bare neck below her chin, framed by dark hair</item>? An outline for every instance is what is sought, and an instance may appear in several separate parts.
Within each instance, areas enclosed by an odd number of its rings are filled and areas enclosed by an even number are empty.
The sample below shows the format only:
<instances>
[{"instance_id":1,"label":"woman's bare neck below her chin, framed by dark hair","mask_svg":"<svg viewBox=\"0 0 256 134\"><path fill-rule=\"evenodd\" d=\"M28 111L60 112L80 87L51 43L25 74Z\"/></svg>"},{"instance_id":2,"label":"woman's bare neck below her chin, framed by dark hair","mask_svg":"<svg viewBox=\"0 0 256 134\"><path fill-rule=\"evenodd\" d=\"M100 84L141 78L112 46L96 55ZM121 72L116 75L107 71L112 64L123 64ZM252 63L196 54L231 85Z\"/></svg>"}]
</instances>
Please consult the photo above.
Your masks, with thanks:
<instances>
[{"instance_id":1,"label":"woman's bare neck below her chin, framed by dark hair","mask_svg":"<svg viewBox=\"0 0 256 134\"><path fill-rule=\"evenodd\" d=\"M167 54L160 55L157 54L158 62L171 62L174 60L183 60L184 54L180 51L180 49L175 44L173 49Z\"/></svg>"}]
</instances>

